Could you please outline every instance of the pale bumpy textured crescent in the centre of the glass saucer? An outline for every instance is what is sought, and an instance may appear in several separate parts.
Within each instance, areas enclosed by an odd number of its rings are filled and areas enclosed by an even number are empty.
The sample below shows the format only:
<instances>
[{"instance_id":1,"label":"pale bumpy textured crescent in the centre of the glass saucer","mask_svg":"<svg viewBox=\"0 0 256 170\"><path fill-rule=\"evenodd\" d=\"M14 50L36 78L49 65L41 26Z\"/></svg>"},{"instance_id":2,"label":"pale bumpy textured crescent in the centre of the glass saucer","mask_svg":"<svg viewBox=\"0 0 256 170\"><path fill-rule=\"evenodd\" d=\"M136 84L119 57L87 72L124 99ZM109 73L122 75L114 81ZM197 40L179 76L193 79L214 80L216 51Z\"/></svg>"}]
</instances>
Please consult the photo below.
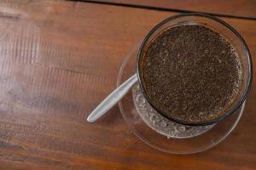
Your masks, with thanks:
<instances>
[{"instance_id":1,"label":"pale bumpy textured crescent in the centre of the glass saucer","mask_svg":"<svg viewBox=\"0 0 256 170\"><path fill-rule=\"evenodd\" d=\"M152 128L157 133L165 135L168 139L187 139L206 133L215 124L207 126L188 126L172 122L166 117L160 115L157 111L148 104L144 98L138 83L132 88L132 97L139 116L143 119L148 127Z\"/></svg>"}]
</instances>

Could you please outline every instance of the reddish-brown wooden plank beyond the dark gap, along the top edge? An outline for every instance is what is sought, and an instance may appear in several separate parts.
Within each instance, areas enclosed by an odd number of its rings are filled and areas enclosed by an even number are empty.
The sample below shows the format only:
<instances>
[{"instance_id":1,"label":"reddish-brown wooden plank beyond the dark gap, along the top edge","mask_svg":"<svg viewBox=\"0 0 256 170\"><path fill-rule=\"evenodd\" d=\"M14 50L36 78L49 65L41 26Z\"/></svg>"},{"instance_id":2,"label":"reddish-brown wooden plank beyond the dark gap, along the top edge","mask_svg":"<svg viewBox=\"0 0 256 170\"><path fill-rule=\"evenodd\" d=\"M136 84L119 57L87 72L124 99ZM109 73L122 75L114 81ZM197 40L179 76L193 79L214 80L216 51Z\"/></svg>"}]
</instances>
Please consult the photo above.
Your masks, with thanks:
<instances>
[{"instance_id":1,"label":"reddish-brown wooden plank beyond the dark gap, along the top edge","mask_svg":"<svg viewBox=\"0 0 256 170\"><path fill-rule=\"evenodd\" d=\"M83 1L83 0L82 0ZM86 1L86 0L84 0ZM248 17L256 19L256 1L252 0L234 0L234 1L222 1L222 0L189 0L189 1L176 1L176 0L89 0L91 2L102 3L115 3L135 5L138 7L149 8L163 8L174 9L191 12L201 12L209 14L225 14L237 17Z\"/></svg>"}]
</instances>

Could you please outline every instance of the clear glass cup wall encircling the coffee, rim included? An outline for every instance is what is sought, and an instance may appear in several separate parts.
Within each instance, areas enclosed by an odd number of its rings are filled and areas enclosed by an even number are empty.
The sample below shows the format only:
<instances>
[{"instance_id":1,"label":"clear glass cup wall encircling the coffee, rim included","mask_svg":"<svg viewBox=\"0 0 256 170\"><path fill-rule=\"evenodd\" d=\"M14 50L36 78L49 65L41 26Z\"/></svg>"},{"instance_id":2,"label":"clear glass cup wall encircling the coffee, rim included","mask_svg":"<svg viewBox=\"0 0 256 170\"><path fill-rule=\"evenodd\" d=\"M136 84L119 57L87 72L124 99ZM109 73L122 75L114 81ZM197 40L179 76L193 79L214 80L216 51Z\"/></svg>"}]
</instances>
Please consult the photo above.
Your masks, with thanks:
<instances>
[{"instance_id":1,"label":"clear glass cup wall encircling the coffee, rim included","mask_svg":"<svg viewBox=\"0 0 256 170\"><path fill-rule=\"evenodd\" d=\"M201 122L185 122L183 120L177 119L175 117L168 117L174 122L193 125L193 126L202 126L202 125L209 125L212 123L219 122L223 120L226 116L234 113L246 99L248 90L252 83L252 59L247 48L247 44L241 35L236 31L232 26L220 20L214 16L208 14L178 14L167 18L166 20L161 21L158 25L154 26L154 28L148 32L148 35L144 38L137 54L137 77L140 84L140 88L143 92L145 99L148 100L148 103L160 114L165 116L160 110L158 110L150 101L147 94L145 93L145 88L142 81L142 62L143 62L143 54L146 48L148 47L149 43L154 40L154 38L160 34L160 32L165 31L167 28L174 27L174 26L188 26L188 25L199 25L199 26L207 26L214 31L217 31L220 35L226 37L230 43L236 48L238 57L241 60L241 91L239 92L238 96L234 100L233 104L224 111L223 114L220 116L207 121Z\"/></svg>"}]
</instances>

